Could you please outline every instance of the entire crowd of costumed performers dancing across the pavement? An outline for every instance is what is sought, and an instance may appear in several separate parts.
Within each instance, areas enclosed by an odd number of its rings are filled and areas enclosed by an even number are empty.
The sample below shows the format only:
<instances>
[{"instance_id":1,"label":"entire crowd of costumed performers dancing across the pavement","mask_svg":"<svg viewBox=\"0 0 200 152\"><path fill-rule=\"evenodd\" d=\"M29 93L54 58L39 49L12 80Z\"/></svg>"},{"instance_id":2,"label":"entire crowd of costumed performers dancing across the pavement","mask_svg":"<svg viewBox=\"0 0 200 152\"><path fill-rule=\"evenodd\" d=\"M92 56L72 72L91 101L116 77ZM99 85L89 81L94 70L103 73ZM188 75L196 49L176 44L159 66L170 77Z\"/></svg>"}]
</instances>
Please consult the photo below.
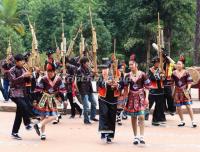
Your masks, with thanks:
<instances>
[{"instance_id":1,"label":"entire crowd of costumed performers dancing across the pavement","mask_svg":"<svg viewBox=\"0 0 200 152\"><path fill-rule=\"evenodd\" d=\"M83 114L85 125L91 125L91 121L99 122L101 139L106 143L112 142L116 123L122 125L122 120L130 116L133 144L145 144L144 123L149 119L154 103L152 125L166 124L165 115L173 116L177 110L180 117L177 126L185 126L182 111L185 105L191 126L197 127L191 108L192 78L184 68L183 56L177 63L172 63L163 54L163 70L160 69L160 58L154 57L153 66L145 73L140 70L135 55L131 55L128 66L112 55L111 59L102 59L101 71L95 73L86 55L56 61L53 53L47 52L45 72L41 67L28 66L29 53L10 56L2 64L1 92L6 102L11 99L17 107L11 133L14 139L22 139L19 129L23 120L27 130L34 128L40 139L45 140L46 125L59 123L61 115L67 114L68 101L70 118L75 118L78 113L80 117ZM94 93L98 93L99 120ZM58 111L60 105L63 105L61 112ZM37 123L32 124L33 119L37 119Z\"/></svg>"}]
</instances>

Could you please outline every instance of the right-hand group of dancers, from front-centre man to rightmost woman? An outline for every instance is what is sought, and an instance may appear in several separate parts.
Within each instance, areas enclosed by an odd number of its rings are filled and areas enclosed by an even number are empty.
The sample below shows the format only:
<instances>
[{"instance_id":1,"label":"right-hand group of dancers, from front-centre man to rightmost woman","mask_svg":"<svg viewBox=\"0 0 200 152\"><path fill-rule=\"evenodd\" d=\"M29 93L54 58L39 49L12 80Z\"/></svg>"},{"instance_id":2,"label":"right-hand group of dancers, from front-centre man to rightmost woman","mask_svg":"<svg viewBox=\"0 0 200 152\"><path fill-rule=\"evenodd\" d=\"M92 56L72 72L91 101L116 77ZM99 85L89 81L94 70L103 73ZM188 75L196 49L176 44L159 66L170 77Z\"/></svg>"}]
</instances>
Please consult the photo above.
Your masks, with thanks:
<instances>
[{"instance_id":1,"label":"right-hand group of dancers, from front-centre man to rightmost woman","mask_svg":"<svg viewBox=\"0 0 200 152\"><path fill-rule=\"evenodd\" d=\"M191 108L190 89L192 78L184 68L185 58L180 56L176 64L171 62L164 53L163 58L163 71L159 68L160 58L154 57L152 59L153 66L149 71L147 73L142 72L135 61L135 55L130 57L129 72L121 71L120 66L116 73L112 72L114 62L102 68L102 76L97 82L99 131L102 140L107 143L112 142L115 135L116 114L118 120L118 107L122 106L123 112L131 117L134 145L145 144L144 122L145 119L148 120L149 111L154 103L152 125L166 124L165 114L174 115L177 109L181 120L178 127L185 126L182 106L186 106L191 118L191 126L193 128L197 127ZM124 66L123 62L121 66ZM138 126L140 129L139 134L137 131Z\"/></svg>"}]
</instances>

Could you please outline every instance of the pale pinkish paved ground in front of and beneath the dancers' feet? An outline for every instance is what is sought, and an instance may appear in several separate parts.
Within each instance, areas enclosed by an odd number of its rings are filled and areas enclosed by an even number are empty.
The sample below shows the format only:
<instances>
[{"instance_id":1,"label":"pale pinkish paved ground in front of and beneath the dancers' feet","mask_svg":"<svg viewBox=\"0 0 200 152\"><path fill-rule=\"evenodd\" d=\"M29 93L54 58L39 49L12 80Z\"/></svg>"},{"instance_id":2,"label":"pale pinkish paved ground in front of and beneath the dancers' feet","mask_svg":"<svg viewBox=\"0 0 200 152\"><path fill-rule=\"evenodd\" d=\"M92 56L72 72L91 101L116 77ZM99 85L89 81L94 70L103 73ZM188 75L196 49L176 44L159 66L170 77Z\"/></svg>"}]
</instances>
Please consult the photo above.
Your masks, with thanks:
<instances>
[{"instance_id":1,"label":"pale pinkish paved ground in front of and beneath the dancers' feet","mask_svg":"<svg viewBox=\"0 0 200 152\"><path fill-rule=\"evenodd\" d=\"M195 115L200 122L200 115ZM40 141L35 131L26 131L21 126L22 141L10 137L14 113L0 112L0 151L1 152L199 152L200 128L191 128L188 115L185 115L186 127L178 128L178 116L168 116L166 126L153 127L146 122L146 146L134 146L130 118L123 121L123 126L117 126L116 138L113 144L101 142L97 132L98 123L85 126L81 118L69 119L64 116L58 125L49 124L47 140Z\"/></svg>"}]
</instances>

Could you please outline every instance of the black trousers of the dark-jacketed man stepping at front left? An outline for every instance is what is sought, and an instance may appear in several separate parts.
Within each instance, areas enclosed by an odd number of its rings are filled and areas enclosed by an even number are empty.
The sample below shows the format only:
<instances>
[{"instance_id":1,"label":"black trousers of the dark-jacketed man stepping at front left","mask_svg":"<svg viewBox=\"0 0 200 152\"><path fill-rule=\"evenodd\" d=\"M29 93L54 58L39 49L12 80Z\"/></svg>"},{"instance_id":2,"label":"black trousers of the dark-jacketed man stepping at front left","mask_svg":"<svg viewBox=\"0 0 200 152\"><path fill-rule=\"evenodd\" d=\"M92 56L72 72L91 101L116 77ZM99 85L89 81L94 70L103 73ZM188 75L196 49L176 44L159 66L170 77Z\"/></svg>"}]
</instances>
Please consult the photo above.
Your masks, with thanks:
<instances>
[{"instance_id":1,"label":"black trousers of the dark-jacketed man stepping at front left","mask_svg":"<svg viewBox=\"0 0 200 152\"><path fill-rule=\"evenodd\" d=\"M22 119L23 119L25 126L27 126L31 123L31 121L30 121L31 111L30 111L30 107L28 105L29 101L27 101L27 99L23 98L23 97L11 98L11 99L17 106L12 133L18 133L20 125L22 123Z\"/></svg>"}]
</instances>

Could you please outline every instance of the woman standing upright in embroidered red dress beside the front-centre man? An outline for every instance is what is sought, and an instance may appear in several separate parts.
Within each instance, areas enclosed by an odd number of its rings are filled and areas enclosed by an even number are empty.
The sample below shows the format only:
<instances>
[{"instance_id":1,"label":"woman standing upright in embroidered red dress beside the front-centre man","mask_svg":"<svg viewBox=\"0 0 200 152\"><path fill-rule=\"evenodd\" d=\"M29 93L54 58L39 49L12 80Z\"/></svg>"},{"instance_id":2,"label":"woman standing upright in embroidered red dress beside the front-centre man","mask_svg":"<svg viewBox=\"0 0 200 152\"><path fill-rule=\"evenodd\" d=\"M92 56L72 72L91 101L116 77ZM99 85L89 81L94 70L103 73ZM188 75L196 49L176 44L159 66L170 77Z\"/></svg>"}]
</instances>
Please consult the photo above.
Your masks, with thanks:
<instances>
[{"instance_id":1,"label":"woman standing upright in embroidered red dress beside the front-centre man","mask_svg":"<svg viewBox=\"0 0 200 152\"><path fill-rule=\"evenodd\" d=\"M138 70L138 65L131 57L129 61L131 72L124 79L124 91L128 94L128 102L125 106L127 115L131 116L132 128L134 132L133 144L145 144L144 136L144 114L148 105L145 94L145 87L150 85L150 80L146 74ZM137 120L140 127L140 138L137 137Z\"/></svg>"}]
</instances>

